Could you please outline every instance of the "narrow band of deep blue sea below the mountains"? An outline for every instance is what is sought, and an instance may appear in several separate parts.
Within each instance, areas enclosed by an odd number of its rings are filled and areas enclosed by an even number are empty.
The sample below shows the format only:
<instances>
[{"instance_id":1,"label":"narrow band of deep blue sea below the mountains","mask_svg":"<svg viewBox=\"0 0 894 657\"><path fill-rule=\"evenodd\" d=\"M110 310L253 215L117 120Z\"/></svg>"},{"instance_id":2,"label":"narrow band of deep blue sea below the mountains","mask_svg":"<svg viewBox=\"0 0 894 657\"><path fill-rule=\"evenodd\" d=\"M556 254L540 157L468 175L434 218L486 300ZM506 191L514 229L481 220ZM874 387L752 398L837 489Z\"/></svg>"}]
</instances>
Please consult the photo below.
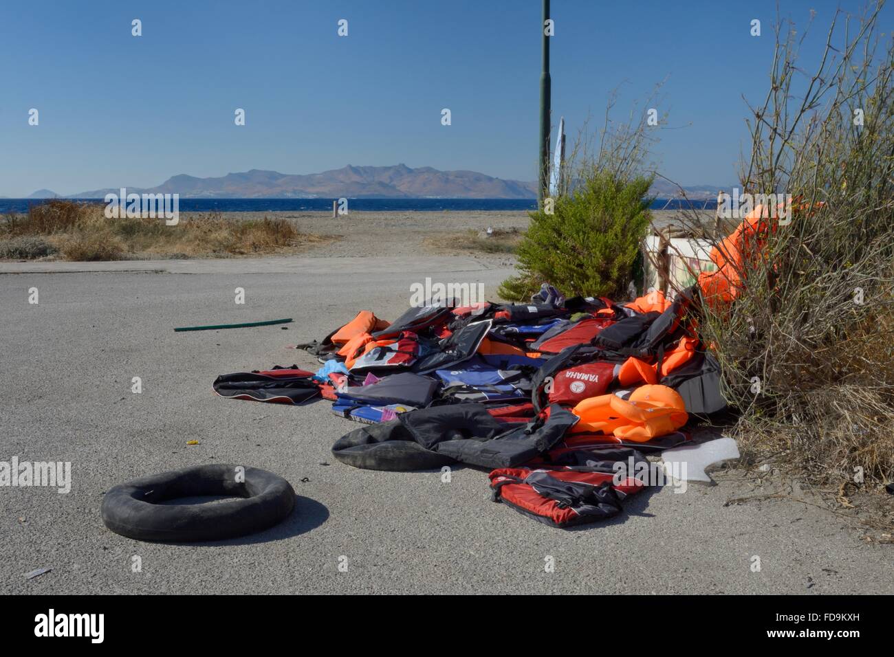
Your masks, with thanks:
<instances>
[{"instance_id":1,"label":"narrow band of deep blue sea below the mountains","mask_svg":"<svg viewBox=\"0 0 894 657\"><path fill-rule=\"evenodd\" d=\"M85 199L104 203L102 198ZM302 212L331 211L334 198L181 198L181 212ZM0 198L0 215L28 212L30 206L46 202L35 198ZM349 198L349 210L375 212L443 212L480 210L535 210L536 200L527 198ZM678 210L684 207L713 210L715 200L683 201L655 199L654 210Z\"/></svg>"}]
</instances>

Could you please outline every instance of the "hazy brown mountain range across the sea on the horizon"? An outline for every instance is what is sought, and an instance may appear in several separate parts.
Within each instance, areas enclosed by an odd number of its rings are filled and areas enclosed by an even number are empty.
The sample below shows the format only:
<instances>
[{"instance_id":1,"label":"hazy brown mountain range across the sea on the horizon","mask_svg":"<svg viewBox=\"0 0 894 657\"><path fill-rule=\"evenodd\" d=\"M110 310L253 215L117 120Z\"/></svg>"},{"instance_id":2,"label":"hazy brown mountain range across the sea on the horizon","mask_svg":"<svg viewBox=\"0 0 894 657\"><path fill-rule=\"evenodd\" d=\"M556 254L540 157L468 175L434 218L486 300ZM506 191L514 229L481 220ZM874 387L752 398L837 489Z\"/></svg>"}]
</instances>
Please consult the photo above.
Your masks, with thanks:
<instances>
[{"instance_id":1,"label":"hazy brown mountain range across the sea on the horizon","mask_svg":"<svg viewBox=\"0 0 894 657\"><path fill-rule=\"evenodd\" d=\"M684 188L687 198L715 198L719 188ZM536 182L493 178L474 171L438 171L430 166L348 166L323 173L296 175L252 169L218 178L175 175L151 188L128 187L137 194L180 194L182 198L536 198ZM118 189L81 191L65 198L104 198ZM652 189L658 198L679 198L679 190L663 180ZM29 198L58 198L38 190Z\"/></svg>"}]
</instances>

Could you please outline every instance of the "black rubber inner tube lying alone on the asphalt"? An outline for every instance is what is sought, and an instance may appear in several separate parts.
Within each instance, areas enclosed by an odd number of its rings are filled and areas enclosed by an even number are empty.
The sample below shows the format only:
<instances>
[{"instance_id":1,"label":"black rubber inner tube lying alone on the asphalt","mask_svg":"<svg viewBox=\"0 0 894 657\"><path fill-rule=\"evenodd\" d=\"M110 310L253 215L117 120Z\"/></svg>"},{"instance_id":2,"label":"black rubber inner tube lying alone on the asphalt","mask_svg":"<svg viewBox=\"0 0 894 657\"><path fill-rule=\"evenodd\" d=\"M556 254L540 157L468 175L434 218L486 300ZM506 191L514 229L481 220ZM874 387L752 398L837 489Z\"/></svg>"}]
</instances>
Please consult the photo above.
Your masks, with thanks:
<instances>
[{"instance_id":1,"label":"black rubber inner tube lying alone on the asphalt","mask_svg":"<svg viewBox=\"0 0 894 657\"><path fill-rule=\"evenodd\" d=\"M244 476L243 476L244 472ZM182 497L229 495L240 500L165 505ZM257 467L215 464L136 479L105 493L102 515L115 534L139 541L215 541L254 534L282 522L295 505L283 477Z\"/></svg>"}]
</instances>

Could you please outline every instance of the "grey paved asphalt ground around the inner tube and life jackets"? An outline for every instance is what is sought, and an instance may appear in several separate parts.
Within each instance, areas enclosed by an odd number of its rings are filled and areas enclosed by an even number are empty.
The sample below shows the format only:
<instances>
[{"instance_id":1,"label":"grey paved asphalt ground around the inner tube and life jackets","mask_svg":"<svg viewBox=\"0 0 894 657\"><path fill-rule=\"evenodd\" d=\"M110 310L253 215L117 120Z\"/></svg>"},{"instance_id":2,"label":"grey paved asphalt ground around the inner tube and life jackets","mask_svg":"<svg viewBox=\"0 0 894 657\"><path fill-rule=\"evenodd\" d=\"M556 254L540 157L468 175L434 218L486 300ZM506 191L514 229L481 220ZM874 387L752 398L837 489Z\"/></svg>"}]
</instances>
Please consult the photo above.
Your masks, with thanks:
<instances>
[{"instance_id":1,"label":"grey paved asphalt ground around the inner tube and life jackets","mask_svg":"<svg viewBox=\"0 0 894 657\"><path fill-rule=\"evenodd\" d=\"M322 337L359 308L393 318L426 275L493 293L508 270L485 267L412 256L0 264L0 460L71 461L73 478L69 494L0 488L0 592L894 593L891 546L861 543L828 512L784 500L725 507L765 490L740 473L642 494L620 518L563 532L488 501L477 469L457 468L445 484L439 472L340 465L329 448L357 425L327 402L211 392L219 374L311 365L286 345ZM245 306L233 302L236 287ZM172 330L286 316L288 331ZM139 543L103 526L112 485L208 462L285 476L296 513L263 534L201 545ZM38 568L52 571L26 580Z\"/></svg>"}]
</instances>

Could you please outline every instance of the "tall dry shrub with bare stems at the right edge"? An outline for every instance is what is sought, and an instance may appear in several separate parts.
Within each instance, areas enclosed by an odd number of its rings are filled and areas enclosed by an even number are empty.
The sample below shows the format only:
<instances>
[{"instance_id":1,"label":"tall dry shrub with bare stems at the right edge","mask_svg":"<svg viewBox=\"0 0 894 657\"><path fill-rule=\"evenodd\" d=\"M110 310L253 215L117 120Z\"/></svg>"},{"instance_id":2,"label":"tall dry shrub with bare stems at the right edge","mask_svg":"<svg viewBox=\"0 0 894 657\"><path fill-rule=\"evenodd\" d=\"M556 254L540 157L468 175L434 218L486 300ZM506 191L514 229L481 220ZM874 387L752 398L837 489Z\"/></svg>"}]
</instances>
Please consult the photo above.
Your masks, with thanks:
<instances>
[{"instance_id":1,"label":"tall dry shrub with bare stems at the right edge","mask_svg":"<svg viewBox=\"0 0 894 657\"><path fill-rule=\"evenodd\" d=\"M894 479L894 48L877 17L837 14L813 76L780 22L741 187L800 209L764 223L737 299L704 304L700 327L752 457L871 490Z\"/></svg>"}]
</instances>

